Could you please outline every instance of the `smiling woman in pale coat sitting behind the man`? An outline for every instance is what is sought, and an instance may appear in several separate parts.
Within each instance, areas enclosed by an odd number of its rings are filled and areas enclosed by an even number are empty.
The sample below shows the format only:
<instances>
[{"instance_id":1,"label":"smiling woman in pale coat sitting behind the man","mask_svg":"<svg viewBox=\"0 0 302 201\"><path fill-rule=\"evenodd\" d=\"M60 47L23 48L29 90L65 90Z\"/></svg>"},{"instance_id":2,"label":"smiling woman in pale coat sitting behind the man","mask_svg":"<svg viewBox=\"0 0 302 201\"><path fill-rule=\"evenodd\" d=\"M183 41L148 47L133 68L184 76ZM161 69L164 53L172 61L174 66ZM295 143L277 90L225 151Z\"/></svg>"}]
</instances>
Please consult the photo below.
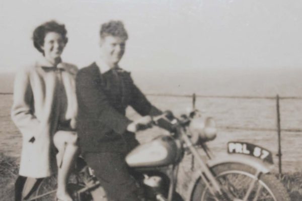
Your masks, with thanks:
<instances>
[{"instance_id":1,"label":"smiling woman in pale coat sitting behind the man","mask_svg":"<svg viewBox=\"0 0 302 201\"><path fill-rule=\"evenodd\" d=\"M77 99L74 79L77 67L61 61L68 41L64 25L46 22L33 32L34 47L42 53L15 79L12 119L23 135L16 200L28 178L50 176L54 170L53 143L58 165L57 200L70 201L66 191L68 171L77 155L75 118Z\"/></svg>"}]
</instances>

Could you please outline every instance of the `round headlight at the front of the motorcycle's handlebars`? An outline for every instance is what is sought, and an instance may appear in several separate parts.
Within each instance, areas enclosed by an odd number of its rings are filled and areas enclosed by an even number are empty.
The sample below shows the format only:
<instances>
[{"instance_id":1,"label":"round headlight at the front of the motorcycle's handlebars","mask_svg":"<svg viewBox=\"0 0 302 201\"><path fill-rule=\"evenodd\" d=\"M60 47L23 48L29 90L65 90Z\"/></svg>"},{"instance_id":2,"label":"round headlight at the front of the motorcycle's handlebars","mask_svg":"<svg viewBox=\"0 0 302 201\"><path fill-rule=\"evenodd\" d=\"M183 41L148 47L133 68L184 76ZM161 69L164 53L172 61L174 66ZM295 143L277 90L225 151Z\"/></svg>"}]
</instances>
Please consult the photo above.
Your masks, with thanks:
<instances>
[{"instance_id":1,"label":"round headlight at the front of the motorcycle's handlebars","mask_svg":"<svg viewBox=\"0 0 302 201\"><path fill-rule=\"evenodd\" d=\"M216 124L211 117L194 117L191 120L189 131L192 134L193 144L214 140L217 135Z\"/></svg>"}]
</instances>

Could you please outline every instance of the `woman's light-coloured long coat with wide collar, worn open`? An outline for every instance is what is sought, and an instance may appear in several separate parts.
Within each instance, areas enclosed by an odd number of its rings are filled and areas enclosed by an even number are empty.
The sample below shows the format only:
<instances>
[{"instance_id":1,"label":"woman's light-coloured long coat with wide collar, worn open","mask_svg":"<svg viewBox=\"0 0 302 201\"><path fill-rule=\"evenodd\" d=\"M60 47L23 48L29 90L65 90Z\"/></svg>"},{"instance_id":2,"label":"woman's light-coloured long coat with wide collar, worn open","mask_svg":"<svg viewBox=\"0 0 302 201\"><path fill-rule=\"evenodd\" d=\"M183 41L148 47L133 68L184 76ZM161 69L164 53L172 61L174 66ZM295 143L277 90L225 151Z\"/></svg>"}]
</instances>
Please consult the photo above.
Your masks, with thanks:
<instances>
[{"instance_id":1,"label":"woman's light-coloured long coat with wide collar, worn open","mask_svg":"<svg viewBox=\"0 0 302 201\"><path fill-rule=\"evenodd\" d=\"M75 75L77 67L59 63L60 70L48 70L45 58L20 70L15 78L12 119L23 136L19 174L41 178L50 176L56 168L52 137L56 132L59 106L56 102L58 74L67 96L65 118L75 126L77 98Z\"/></svg>"}]
</instances>

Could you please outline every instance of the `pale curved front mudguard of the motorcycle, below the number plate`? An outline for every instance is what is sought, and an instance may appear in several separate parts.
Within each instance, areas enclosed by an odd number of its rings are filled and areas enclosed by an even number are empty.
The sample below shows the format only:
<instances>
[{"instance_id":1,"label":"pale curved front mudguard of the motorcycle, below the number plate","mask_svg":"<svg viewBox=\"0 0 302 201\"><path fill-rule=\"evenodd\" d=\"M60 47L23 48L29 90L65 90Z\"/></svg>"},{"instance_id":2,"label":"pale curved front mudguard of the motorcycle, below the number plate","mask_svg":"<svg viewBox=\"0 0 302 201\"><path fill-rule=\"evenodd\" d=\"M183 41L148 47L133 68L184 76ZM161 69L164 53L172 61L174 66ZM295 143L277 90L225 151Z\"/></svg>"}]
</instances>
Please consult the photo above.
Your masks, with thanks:
<instances>
[{"instance_id":1,"label":"pale curved front mudguard of the motorcycle, below the number plate","mask_svg":"<svg viewBox=\"0 0 302 201\"><path fill-rule=\"evenodd\" d=\"M255 170L259 170L264 174L270 172L273 168L272 164L263 162L262 160L260 160L258 158L248 156L248 155L243 155L243 154L232 154L232 155L229 154L229 155L222 156L222 157L216 157L212 160L207 161L207 165L210 169L212 169L213 167L215 167L217 165L222 165L222 164L226 164L226 163L244 164L244 165L254 168ZM194 185L197 182L197 180L199 179L199 177L200 177L200 171L196 171L195 173L193 173L193 176L191 179L192 182L189 185L189 190L188 190L188 194L186 196L187 197L186 200L190 200Z\"/></svg>"}]
</instances>

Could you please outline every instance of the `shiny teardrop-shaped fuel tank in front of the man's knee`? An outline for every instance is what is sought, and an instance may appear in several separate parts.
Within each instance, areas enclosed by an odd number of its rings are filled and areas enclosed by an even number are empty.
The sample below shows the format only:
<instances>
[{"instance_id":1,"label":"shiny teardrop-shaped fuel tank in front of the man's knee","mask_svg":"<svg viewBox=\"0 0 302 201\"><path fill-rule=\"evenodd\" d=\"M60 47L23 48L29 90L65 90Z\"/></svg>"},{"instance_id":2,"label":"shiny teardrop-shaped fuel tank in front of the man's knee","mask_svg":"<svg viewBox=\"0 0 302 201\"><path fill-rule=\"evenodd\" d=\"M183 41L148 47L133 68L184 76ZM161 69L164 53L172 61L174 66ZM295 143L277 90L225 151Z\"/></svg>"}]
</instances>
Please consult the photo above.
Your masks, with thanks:
<instances>
[{"instance_id":1,"label":"shiny teardrop-shaped fuel tank in front of the man's knee","mask_svg":"<svg viewBox=\"0 0 302 201\"><path fill-rule=\"evenodd\" d=\"M153 167L173 164L180 155L180 145L170 136L159 136L141 144L127 156L130 167Z\"/></svg>"}]
</instances>

